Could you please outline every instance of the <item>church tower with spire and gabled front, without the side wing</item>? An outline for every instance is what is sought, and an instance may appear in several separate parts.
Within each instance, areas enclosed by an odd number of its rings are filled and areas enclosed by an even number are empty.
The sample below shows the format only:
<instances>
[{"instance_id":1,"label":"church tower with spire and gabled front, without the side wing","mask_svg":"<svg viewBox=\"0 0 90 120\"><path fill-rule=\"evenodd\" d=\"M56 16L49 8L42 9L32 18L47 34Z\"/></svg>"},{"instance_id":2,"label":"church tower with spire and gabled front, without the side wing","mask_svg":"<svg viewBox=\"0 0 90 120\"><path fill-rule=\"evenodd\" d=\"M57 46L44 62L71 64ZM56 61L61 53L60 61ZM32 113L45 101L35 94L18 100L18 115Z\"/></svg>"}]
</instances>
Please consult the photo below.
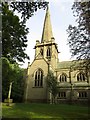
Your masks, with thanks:
<instances>
[{"instance_id":1,"label":"church tower with spire and gabled front, without the side wing","mask_svg":"<svg viewBox=\"0 0 90 120\"><path fill-rule=\"evenodd\" d=\"M48 99L45 77L48 70L57 67L58 48L53 37L49 8L46 9L41 41L36 40L35 58L27 68L25 100L46 102Z\"/></svg>"}]
</instances>

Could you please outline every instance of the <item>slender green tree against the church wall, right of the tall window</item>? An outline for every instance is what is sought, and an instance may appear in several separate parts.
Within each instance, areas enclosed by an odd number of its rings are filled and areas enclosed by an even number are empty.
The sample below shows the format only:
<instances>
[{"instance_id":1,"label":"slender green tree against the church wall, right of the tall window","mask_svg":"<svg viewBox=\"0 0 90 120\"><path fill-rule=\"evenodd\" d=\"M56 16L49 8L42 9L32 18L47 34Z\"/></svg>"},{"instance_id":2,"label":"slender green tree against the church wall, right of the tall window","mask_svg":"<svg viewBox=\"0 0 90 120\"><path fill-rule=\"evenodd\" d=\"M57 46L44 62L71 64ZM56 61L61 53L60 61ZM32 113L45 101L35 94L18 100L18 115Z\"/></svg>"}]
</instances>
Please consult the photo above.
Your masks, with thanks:
<instances>
[{"instance_id":1,"label":"slender green tree against the church wall, right of the tall window","mask_svg":"<svg viewBox=\"0 0 90 120\"><path fill-rule=\"evenodd\" d=\"M53 75L53 73L50 71L46 76L46 84L49 93L51 93L51 103L55 103L55 98L58 93L58 82L57 78Z\"/></svg>"}]
</instances>

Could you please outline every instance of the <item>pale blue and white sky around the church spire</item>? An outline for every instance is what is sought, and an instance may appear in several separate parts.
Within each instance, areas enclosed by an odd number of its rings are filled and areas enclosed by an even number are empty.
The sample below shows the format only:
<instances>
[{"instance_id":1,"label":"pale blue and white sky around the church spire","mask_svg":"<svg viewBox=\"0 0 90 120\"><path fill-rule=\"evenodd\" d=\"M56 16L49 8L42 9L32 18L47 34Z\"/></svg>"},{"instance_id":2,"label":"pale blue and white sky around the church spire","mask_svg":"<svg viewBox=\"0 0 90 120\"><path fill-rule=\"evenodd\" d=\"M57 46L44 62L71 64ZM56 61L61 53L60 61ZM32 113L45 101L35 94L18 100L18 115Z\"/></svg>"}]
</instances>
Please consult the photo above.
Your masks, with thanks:
<instances>
[{"instance_id":1,"label":"pale blue and white sky around the church spire","mask_svg":"<svg viewBox=\"0 0 90 120\"><path fill-rule=\"evenodd\" d=\"M58 44L59 61L69 61L71 59L71 53L69 45L67 45L67 28L68 26L75 25L76 18L73 16L71 10L74 0L47 0L49 1L49 11L51 17L53 37ZM45 19L46 10L38 10L34 16L27 21L27 27L29 28L28 47L26 53L29 55L30 60L25 60L22 65L23 68L27 68L28 62L32 63L35 55L35 43L36 40L41 41L43 24Z\"/></svg>"}]
</instances>

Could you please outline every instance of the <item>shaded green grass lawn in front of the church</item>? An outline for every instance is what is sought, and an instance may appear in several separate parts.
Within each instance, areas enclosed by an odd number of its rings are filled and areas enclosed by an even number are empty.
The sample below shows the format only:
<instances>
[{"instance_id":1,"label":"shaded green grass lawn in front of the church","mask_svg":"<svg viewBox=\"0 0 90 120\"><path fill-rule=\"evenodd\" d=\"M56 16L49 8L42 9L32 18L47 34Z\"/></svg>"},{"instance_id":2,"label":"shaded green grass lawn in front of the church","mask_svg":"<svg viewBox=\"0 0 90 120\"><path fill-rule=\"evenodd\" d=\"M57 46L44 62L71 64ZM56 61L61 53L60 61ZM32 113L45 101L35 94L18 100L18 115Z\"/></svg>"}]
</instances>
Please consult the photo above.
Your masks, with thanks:
<instances>
[{"instance_id":1,"label":"shaded green grass lawn in front of the church","mask_svg":"<svg viewBox=\"0 0 90 120\"><path fill-rule=\"evenodd\" d=\"M15 103L12 106L2 104L3 118L29 118L46 120L88 120L88 107L67 104Z\"/></svg>"}]
</instances>

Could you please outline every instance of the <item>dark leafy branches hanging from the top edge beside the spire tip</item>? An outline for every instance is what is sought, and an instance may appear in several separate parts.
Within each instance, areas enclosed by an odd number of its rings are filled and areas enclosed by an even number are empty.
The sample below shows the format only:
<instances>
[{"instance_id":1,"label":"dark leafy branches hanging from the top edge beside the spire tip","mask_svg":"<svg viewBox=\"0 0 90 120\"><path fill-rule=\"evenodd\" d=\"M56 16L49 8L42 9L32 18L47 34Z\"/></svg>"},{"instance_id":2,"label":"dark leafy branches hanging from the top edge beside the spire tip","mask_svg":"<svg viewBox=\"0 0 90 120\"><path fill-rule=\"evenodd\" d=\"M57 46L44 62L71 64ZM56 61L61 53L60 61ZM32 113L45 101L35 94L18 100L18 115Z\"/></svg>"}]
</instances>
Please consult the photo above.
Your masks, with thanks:
<instances>
[{"instance_id":1,"label":"dark leafy branches hanging from the top edge beside the spire tip","mask_svg":"<svg viewBox=\"0 0 90 120\"><path fill-rule=\"evenodd\" d=\"M18 11L18 13L21 13L23 22L26 22L27 19L34 15L34 12L36 12L38 8L45 9L47 5L48 2L45 0L36 0L35 2L11 2L10 7L13 11Z\"/></svg>"}]
</instances>

